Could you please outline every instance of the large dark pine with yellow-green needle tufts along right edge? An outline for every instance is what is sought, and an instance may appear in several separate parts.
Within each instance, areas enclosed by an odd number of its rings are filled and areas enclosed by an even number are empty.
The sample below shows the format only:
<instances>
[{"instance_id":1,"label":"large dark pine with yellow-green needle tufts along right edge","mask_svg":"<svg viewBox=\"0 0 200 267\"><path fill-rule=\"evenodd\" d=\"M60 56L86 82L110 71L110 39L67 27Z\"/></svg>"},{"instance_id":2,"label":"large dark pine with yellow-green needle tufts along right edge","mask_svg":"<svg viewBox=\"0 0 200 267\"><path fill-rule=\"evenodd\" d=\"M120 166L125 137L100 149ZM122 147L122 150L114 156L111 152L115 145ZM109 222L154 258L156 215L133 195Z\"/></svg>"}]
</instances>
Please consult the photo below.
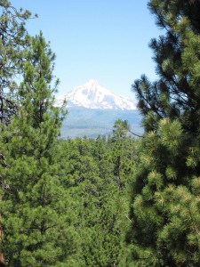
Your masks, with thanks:
<instances>
[{"instance_id":1,"label":"large dark pine with yellow-green needle tufts along right edge","mask_svg":"<svg viewBox=\"0 0 200 267\"><path fill-rule=\"evenodd\" d=\"M152 39L156 72L133 90L145 134L132 184L127 266L199 266L200 3L149 2L164 36Z\"/></svg>"}]
</instances>

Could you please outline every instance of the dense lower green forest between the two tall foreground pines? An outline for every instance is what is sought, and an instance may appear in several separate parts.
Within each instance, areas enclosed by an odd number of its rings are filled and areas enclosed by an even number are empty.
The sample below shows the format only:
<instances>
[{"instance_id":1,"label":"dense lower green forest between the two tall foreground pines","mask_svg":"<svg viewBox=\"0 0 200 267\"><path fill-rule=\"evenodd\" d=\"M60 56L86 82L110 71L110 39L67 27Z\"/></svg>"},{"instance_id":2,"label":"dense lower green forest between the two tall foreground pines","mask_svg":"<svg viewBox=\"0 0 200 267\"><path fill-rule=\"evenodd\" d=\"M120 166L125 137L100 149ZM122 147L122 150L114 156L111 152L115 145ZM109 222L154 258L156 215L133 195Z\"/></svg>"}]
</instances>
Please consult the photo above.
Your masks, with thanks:
<instances>
[{"instance_id":1,"label":"dense lower green forest between the two tall foreground pines","mask_svg":"<svg viewBox=\"0 0 200 267\"><path fill-rule=\"evenodd\" d=\"M119 141L120 153L124 155L121 162L126 159L129 162L125 174L120 170L124 181L120 189L115 174L116 142L114 136L108 140L99 137L60 142L60 175L75 202L80 266L117 266L121 261L125 227L129 222L127 191L135 142L131 138L126 140L125 136Z\"/></svg>"}]
</instances>

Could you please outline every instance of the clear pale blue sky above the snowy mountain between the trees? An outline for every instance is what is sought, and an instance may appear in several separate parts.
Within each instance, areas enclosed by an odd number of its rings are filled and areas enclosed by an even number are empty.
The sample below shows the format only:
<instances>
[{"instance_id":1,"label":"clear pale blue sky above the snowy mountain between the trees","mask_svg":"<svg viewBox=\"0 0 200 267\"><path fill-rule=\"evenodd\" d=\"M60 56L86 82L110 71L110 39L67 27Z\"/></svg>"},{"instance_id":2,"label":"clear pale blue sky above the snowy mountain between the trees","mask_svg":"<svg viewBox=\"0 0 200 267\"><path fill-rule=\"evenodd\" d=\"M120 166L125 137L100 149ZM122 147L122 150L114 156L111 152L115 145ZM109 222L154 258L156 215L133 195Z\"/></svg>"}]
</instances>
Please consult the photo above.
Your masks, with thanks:
<instances>
[{"instance_id":1,"label":"clear pale blue sky above the snowy mountain between the trees","mask_svg":"<svg viewBox=\"0 0 200 267\"><path fill-rule=\"evenodd\" d=\"M148 43L161 34L147 0L11 0L39 15L28 31L40 30L56 53L60 94L90 78L113 93L133 99L133 81L146 74L156 79Z\"/></svg>"}]
</instances>

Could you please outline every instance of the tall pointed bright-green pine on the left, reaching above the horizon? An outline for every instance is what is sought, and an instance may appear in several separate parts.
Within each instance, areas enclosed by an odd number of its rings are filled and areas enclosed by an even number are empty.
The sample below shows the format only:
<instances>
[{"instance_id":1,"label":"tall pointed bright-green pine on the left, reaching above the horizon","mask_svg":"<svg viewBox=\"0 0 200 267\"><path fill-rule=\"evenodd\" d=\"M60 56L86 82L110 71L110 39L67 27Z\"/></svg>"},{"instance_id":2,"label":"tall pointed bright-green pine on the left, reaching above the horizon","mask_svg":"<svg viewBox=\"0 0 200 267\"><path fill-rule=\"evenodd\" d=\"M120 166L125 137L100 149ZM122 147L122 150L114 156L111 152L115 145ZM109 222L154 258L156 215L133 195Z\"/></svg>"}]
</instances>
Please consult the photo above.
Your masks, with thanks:
<instances>
[{"instance_id":1,"label":"tall pointed bright-green pine on the left, reaching above the horizon","mask_svg":"<svg viewBox=\"0 0 200 267\"><path fill-rule=\"evenodd\" d=\"M26 56L18 114L2 126L7 167L1 171L9 185L1 202L4 257L8 266L73 266L71 200L59 176L65 111L53 106L55 56L42 33L31 38Z\"/></svg>"}]
</instances>

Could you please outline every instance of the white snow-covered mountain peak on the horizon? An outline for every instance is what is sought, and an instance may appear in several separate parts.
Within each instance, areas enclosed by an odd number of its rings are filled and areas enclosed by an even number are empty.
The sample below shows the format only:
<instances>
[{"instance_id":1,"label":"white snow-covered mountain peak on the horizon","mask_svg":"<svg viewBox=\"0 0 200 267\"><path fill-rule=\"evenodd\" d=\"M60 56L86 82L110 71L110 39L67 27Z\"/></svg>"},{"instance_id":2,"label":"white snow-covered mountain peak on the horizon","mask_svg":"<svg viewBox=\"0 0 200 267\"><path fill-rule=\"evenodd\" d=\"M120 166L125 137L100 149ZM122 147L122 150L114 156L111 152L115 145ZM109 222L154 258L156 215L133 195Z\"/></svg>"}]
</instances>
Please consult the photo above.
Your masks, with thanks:
<instances>
[{"instance_id":1,"label":"white snow-covered mountain peak on the horizon","mask_svg":"<svg viewBox=\"0 0 200 267\"><path fill-rule=\"evenodd\" d=\"M136 102L108 89L91 79L84 85L77 86L66 95L57 98L56 105L60 106L63 100L68 101L68 107L84 107L86 109L136 109Z\"/></svg>"}]
</instances>

